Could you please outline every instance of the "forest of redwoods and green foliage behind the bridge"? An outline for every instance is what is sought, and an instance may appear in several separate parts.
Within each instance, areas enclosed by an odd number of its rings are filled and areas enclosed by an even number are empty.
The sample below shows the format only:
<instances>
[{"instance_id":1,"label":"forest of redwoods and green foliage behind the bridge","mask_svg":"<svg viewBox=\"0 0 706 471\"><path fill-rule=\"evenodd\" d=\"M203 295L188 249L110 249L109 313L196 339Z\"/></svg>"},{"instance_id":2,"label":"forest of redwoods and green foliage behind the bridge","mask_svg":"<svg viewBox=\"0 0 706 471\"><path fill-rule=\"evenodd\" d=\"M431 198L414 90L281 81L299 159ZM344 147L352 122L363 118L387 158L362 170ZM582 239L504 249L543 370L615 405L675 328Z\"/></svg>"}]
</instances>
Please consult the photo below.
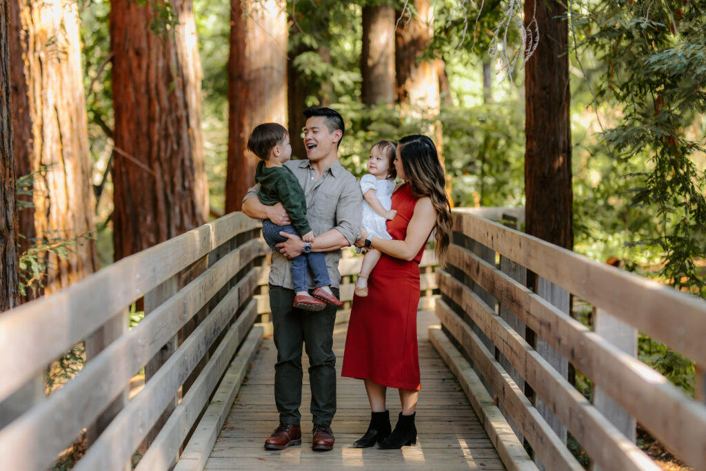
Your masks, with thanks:
<instances>
[{"instance_id":1,"label":"forest of redwoods and green foliage behind the bridge","mask_svg":"<svg viewBox=\"0 0 706 471\"><path fill-rule=\"evenodd\" d=\"M337 109L357 177L378 139L431 133L456 206L525 206L551 193L525 185L526 126L556 138L525 108L525 62L547 54L566 60L570 94L564 245L706 297L706 1L549 4L568 34L558 52L533 23L546 4L530 0L10 0L3 170L18 181L22 299L237 210L252 181L244 138L267 112L305 157L301 109ZM378 42L384 73L368 60ZM693 393L686 359L642 336L640 357Z\"/></svg>"}]
</instances>

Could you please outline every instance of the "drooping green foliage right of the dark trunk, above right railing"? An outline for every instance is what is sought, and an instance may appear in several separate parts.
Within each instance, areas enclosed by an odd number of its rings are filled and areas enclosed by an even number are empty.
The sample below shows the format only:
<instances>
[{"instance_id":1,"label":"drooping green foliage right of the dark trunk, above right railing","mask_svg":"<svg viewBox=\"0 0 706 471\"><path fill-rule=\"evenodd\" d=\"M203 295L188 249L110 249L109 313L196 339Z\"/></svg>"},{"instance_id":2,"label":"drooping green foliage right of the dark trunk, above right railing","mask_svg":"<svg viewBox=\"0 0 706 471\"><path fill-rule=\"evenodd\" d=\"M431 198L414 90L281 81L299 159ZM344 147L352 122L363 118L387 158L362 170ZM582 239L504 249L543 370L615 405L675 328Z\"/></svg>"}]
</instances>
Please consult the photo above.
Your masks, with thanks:
<instances>
[{"instance_id":1,"label":"drooping green foliage right of the dark trunk, above right railing","mask_svg":"<svg viewBox=\"0 0 706 471\"><path fill-rule=\"evenodd\" d=\"M628 172L631 205L654 227L628 245L659 247L660 275L706 297L695 261L706 254L704 135L694 131L706 112L705 1L600 2L575 15L587 47L607 65L597 97L616 100L621 113L602 133ZM626 215L630 217L630 215Z\"/></svg>"}]
</instances>

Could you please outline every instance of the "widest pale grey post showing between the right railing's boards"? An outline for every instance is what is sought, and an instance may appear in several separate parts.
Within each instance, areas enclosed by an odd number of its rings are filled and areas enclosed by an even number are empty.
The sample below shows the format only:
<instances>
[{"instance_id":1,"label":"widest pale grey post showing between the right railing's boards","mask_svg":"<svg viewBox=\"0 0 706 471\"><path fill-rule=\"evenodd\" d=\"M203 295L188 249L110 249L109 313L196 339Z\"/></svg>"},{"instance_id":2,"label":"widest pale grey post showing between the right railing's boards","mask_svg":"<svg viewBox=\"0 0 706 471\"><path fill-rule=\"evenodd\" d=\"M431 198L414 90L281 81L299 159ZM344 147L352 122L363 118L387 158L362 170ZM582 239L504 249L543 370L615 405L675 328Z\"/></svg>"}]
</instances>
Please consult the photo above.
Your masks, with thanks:
<instances>
[{"instance_id":1,"label":"widest pale grey post showing between the right railing's boards","mask_svg":"<svg viewBox=\"0 0 706 471\"><path fill-rule=\"evenodd\" d=\"M595 333L630 356L638 356L638 329L602 309L594 309L593 318ZM635 443L635 419L597 386L593 388L593 405L628 437L628 440ZM599 471L601 468L594 465L592 470Z\"/></svg>"}]
</instances>

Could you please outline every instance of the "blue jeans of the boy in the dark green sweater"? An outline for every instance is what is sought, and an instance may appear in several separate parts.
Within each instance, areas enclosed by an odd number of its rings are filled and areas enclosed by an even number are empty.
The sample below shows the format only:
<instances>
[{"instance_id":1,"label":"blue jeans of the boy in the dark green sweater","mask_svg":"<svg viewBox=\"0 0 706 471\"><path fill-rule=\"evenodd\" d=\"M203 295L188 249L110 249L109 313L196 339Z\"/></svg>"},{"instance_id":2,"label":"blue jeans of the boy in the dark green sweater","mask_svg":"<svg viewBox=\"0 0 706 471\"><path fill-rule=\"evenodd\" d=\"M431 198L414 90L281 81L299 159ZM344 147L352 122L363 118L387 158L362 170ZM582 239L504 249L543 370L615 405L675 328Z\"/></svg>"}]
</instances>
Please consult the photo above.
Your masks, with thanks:
<instances>
[{"instance_id":1,"label":"blue jeans of the boy in the dark green sweater","mask_svg":"<svg viewBox=\"0 0 706 471\"><path fill-rule=\"evenodd\" d=\"M287 237L280 235L280 232L289 234L299 234L294 226L278 226L269 219L263 220L263 239L268 246L275 249L275 245L280 242L286 242ZM278 249L275 249L278 250ZM311 268L313 274L313 282L316 287L328 286L331 284L328 278L328 269L326 268L326 258L322 252L310 252L309 254L301 254L298 257L292 258L292 282L294 282L294 292L309 291L309 283L306 281L306 268Z\"/></svg>"}]
</instances>

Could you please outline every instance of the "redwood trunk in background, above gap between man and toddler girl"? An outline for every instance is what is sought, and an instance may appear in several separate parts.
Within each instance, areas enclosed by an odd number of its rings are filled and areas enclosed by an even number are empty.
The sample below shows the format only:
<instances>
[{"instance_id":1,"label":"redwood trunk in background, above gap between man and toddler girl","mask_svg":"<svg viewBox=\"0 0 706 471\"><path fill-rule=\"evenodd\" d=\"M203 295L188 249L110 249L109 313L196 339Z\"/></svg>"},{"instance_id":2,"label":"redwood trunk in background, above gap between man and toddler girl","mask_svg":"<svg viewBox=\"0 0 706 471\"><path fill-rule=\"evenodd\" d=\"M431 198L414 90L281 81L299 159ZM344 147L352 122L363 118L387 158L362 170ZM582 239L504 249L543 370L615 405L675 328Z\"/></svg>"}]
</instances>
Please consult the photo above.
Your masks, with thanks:
<instances>
[{"instance_id":1,"label":"redwood trunk in background, above gap between man and toddler girl","mask_svg":"<svg viewBox=\"0 0 706 471\"><path fill-rule=\"evenodd\" d=\"M395 10L391 6L363 8L363 48L360 71L366 105L395 101Z\"/></svg>"}]
</instances>

